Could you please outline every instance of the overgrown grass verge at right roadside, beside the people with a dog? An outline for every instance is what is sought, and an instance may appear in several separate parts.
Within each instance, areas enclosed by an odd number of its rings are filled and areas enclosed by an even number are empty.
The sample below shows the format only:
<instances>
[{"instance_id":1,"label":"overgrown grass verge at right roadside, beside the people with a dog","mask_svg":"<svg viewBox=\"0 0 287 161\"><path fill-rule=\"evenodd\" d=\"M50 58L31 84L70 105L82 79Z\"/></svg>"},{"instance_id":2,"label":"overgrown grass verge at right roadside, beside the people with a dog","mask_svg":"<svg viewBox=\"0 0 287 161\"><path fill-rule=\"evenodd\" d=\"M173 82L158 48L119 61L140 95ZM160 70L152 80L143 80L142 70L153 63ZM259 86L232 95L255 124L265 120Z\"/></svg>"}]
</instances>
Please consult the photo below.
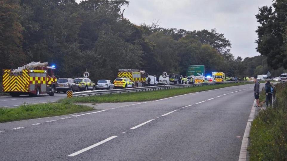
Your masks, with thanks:
<instances>
[{"instance_id":1,"label":"overgrown grass verge at right roadside, beside the people with a dog","mask_svg":"<svg viewBox=\"0 0 287 161\"><path fill-rule=\"evenodd\" d=\"M275 87L273 108L261 110L251 124L250 160L287 160L287 83Z\"/></svg>"}]
</instances>

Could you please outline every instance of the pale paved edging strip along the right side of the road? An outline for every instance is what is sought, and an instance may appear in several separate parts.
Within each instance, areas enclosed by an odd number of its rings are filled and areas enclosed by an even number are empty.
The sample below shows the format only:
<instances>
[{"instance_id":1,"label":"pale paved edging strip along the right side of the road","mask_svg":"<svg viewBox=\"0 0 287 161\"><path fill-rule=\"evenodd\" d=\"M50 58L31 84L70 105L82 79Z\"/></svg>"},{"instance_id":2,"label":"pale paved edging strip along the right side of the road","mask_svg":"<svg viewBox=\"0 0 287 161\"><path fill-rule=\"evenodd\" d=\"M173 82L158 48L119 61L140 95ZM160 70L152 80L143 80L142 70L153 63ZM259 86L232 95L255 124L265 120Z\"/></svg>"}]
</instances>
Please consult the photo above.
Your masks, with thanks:
<instances>
[{"instance_id":1,"label":"pale paved edging strip along the right side of the road","mask_svg":"<svg viewBox=\"0 0 287 161\"><path fill-rule=\"evenodd\" d=\"M246 124L246 128L245 128L243 139L242 139L242 143L241 143L241 149L240 149L240 154L239 154L238 161L246 161L250 126L251 126L251 122L254 119L255 110L256 110L256 107L254 107L255 104L256 104L256 99L254 100L254 102L252 104L251 112L250 112L250 115L249 115L249 118L248 118L248 121L247 121L247 124Z\"/></svg>"}]
</instances>

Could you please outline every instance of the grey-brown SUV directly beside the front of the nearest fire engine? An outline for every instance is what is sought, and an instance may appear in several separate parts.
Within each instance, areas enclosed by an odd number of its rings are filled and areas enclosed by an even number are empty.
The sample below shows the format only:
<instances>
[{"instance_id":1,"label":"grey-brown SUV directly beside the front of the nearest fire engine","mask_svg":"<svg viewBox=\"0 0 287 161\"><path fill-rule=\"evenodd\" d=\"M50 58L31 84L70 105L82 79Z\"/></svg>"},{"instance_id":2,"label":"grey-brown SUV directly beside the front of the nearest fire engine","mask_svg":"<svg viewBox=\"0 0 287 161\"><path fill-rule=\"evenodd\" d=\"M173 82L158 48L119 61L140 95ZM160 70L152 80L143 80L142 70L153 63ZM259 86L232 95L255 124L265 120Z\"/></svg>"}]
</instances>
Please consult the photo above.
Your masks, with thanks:
<instances>
[{"instance_id":1,"label":"grey-brown SUV directly beside the front of the nearest fire engine","mask_svg":"<svg viewBox=\"0 0 287 161\"><path fill-rule=\"evenodd\" d=\"M66 93L68 90L80 91L79 84L72 78L59 78L56 84L56 93Z\"/></svg>"}]
</instances>

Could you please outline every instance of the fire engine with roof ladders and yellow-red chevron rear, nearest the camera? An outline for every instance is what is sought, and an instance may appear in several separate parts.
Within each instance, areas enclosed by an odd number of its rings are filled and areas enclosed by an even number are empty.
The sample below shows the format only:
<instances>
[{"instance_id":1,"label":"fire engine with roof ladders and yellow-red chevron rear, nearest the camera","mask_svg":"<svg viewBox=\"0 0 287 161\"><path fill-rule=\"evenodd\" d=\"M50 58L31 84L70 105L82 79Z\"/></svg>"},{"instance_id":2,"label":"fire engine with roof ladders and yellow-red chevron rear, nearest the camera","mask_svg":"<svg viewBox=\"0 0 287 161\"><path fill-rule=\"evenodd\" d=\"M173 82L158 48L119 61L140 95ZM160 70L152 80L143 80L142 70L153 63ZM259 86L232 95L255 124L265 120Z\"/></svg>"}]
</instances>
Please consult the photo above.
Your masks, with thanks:
<instances>
[{"instance_id":1,"label":"fire engine with roof ladders and yellow-red chevron rear, nearest the camera","mask_svg":"<svg viewBox=\"0 0 287 161\"><path fill-rule=\"evenodd\" d=\"M23 94L39 96L47 93L54 96L56 89L56 69L48 62L31 62L17 69L3 70L3 92L12 97Z\"/></svg>"}]
</instances>

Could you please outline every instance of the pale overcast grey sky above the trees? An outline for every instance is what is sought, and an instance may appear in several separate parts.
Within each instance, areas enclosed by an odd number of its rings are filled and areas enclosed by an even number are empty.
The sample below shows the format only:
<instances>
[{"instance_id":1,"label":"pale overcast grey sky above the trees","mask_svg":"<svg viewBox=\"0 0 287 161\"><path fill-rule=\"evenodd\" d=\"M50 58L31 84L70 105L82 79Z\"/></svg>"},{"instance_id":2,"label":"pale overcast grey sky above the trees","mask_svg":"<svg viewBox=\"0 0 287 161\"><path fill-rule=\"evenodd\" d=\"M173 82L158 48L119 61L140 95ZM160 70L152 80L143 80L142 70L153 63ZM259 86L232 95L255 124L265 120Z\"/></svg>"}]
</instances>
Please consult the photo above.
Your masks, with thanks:
<instances>
[{"instance_id":1,"label":"pale overcast grey sky above the trees","mask_svg":"<svg viewBox=\"0 0 287 161\"><path fill-rule=\"evenodd\" d=\"M79 2L80 0L76 0ZM159 19L164 28L189 31L217 29L232 43L237 56L253 57L256 52L258 7L270 6L272 0L128 0L124 17L134 24L151 24Z\"/></svg>"}]
</instances>

